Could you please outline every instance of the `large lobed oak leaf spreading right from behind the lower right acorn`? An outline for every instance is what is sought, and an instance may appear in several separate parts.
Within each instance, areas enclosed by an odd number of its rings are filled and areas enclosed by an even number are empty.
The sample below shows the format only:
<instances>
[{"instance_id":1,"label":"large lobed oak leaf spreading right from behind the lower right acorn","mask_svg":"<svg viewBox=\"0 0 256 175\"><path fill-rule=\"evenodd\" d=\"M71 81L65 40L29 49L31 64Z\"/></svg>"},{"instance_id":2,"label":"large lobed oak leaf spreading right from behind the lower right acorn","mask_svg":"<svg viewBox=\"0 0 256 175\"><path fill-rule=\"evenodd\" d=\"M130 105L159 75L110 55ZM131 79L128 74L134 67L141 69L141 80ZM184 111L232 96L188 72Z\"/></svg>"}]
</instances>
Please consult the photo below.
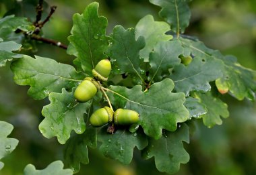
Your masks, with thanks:
<instances>
[{"instance_id":1,"label":"large lobed oak leaf spreading right from behind the lower right acorn","mask_svg":"<svg viewBox=\"0 0 256 175\"><path fill-rule=\"evenodd\" d=\"M184 107L185 95L171 93L174 88L172 80L166 78L152 84L146 92L140 85L127 89L123 86L110 86L108 95L115 108L137 111L140 125L146 135L159 139L162 129L174 131L177 123L187 121L189 111Z\"/></svg>"}]
</instances>

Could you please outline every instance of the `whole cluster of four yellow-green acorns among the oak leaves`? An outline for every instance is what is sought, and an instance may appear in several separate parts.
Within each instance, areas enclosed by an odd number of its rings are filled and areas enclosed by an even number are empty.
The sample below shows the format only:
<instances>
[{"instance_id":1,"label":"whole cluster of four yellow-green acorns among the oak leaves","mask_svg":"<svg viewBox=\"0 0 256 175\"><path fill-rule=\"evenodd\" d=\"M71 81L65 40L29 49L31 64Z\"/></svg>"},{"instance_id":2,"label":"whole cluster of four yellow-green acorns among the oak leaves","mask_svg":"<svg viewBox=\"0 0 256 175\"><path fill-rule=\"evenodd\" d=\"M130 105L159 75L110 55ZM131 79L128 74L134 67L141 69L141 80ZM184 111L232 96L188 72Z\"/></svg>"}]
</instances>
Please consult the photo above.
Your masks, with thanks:
<instances>
[{"instance_id":1,"label":"whole cluster of four yellow-green acorns among the oak leaves","mask_svg":"<svg viewBox=\"0 0 256 175\"><path fill-rule=\"evenodd\" d=\"M74 97L79 103L92 99L100 89L101 83L108 80L111 72L111 64L108 59L100 60L92 70L92 77L86 77L75 89ZM115 112L110 107L102 107L90 117L90 123L94 127L100 127L106 123L115 125L131 125L139 121L139 113L129 109L117 109Z\"/></svg>"}]
</instances>

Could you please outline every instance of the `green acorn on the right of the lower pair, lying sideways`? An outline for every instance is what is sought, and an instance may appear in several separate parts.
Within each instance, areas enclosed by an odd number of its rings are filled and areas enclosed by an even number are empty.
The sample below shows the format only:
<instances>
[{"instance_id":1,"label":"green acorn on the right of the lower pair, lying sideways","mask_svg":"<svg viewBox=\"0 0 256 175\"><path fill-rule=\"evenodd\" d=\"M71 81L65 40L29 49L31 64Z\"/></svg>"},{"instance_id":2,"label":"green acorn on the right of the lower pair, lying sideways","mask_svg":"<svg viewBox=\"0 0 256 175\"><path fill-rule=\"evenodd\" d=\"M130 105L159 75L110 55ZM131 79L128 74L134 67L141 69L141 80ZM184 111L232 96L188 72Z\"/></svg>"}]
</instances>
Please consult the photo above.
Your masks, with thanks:
<instances>
[{"instance_id":1,"label":"green acorn on the right of the lower pair, lying sideways","mask_svg":"<svg viewBox=\"0 0 256 175\"><path fill-rule=\"evenodd\" d=\"M139 113L130 109L117 109L114 114L115 125L131 125L139 121Z\"/></svg>"}]
</instances>

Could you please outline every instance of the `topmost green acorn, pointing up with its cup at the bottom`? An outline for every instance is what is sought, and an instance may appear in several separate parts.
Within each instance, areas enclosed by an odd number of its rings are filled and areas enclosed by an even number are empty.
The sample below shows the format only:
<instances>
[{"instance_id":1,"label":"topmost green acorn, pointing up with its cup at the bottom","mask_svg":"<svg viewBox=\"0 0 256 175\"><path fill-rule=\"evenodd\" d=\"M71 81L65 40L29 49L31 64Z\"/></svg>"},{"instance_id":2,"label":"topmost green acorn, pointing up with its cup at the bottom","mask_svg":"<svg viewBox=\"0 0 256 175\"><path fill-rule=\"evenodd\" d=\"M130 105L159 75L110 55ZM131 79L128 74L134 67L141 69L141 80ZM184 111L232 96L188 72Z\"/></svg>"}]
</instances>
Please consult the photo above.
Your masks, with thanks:
<instances>
[{"instance_id":1,"label":"topmost green acorn, pointing up with its cup at the bottom","mask_svg":"<svg viewBox=\"0 0 256 175\"><path fill-rule=\"evenodd\" d=\"M99 81L108 80L108 75L111 72L111 63L108 59L100 60L96 67L92 70L94 78Z\"/></svg>"}]
</instances>

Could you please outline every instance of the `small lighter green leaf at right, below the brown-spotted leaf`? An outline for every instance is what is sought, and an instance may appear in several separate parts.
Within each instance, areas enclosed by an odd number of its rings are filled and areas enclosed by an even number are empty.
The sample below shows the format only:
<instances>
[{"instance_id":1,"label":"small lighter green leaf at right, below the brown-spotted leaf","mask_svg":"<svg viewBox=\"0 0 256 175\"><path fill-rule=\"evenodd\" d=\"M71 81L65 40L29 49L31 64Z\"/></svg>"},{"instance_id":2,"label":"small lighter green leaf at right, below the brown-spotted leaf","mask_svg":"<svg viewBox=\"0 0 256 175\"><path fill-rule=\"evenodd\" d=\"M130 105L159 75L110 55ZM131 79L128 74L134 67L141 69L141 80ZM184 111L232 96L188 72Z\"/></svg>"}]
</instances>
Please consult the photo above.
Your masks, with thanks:
<instances>
[{"instance_id":1,"label":"small lighter green leaf at right, below the brown-spotted leaf","mask_svg":"<svg viewBox=\"0 0 256 175\"><path fill-rule=\"evenodd\" d=\"M201 115L205 126L213 127L214 125L221 125L222 119L220 119L220 116L223 118L228 117L228 105L219 98L214 97L211 92L207 92L205 94L195 93L193 96L200 99L201 103L203 103L207 108L207 113Z\"/></svg>"}]
</instances>

